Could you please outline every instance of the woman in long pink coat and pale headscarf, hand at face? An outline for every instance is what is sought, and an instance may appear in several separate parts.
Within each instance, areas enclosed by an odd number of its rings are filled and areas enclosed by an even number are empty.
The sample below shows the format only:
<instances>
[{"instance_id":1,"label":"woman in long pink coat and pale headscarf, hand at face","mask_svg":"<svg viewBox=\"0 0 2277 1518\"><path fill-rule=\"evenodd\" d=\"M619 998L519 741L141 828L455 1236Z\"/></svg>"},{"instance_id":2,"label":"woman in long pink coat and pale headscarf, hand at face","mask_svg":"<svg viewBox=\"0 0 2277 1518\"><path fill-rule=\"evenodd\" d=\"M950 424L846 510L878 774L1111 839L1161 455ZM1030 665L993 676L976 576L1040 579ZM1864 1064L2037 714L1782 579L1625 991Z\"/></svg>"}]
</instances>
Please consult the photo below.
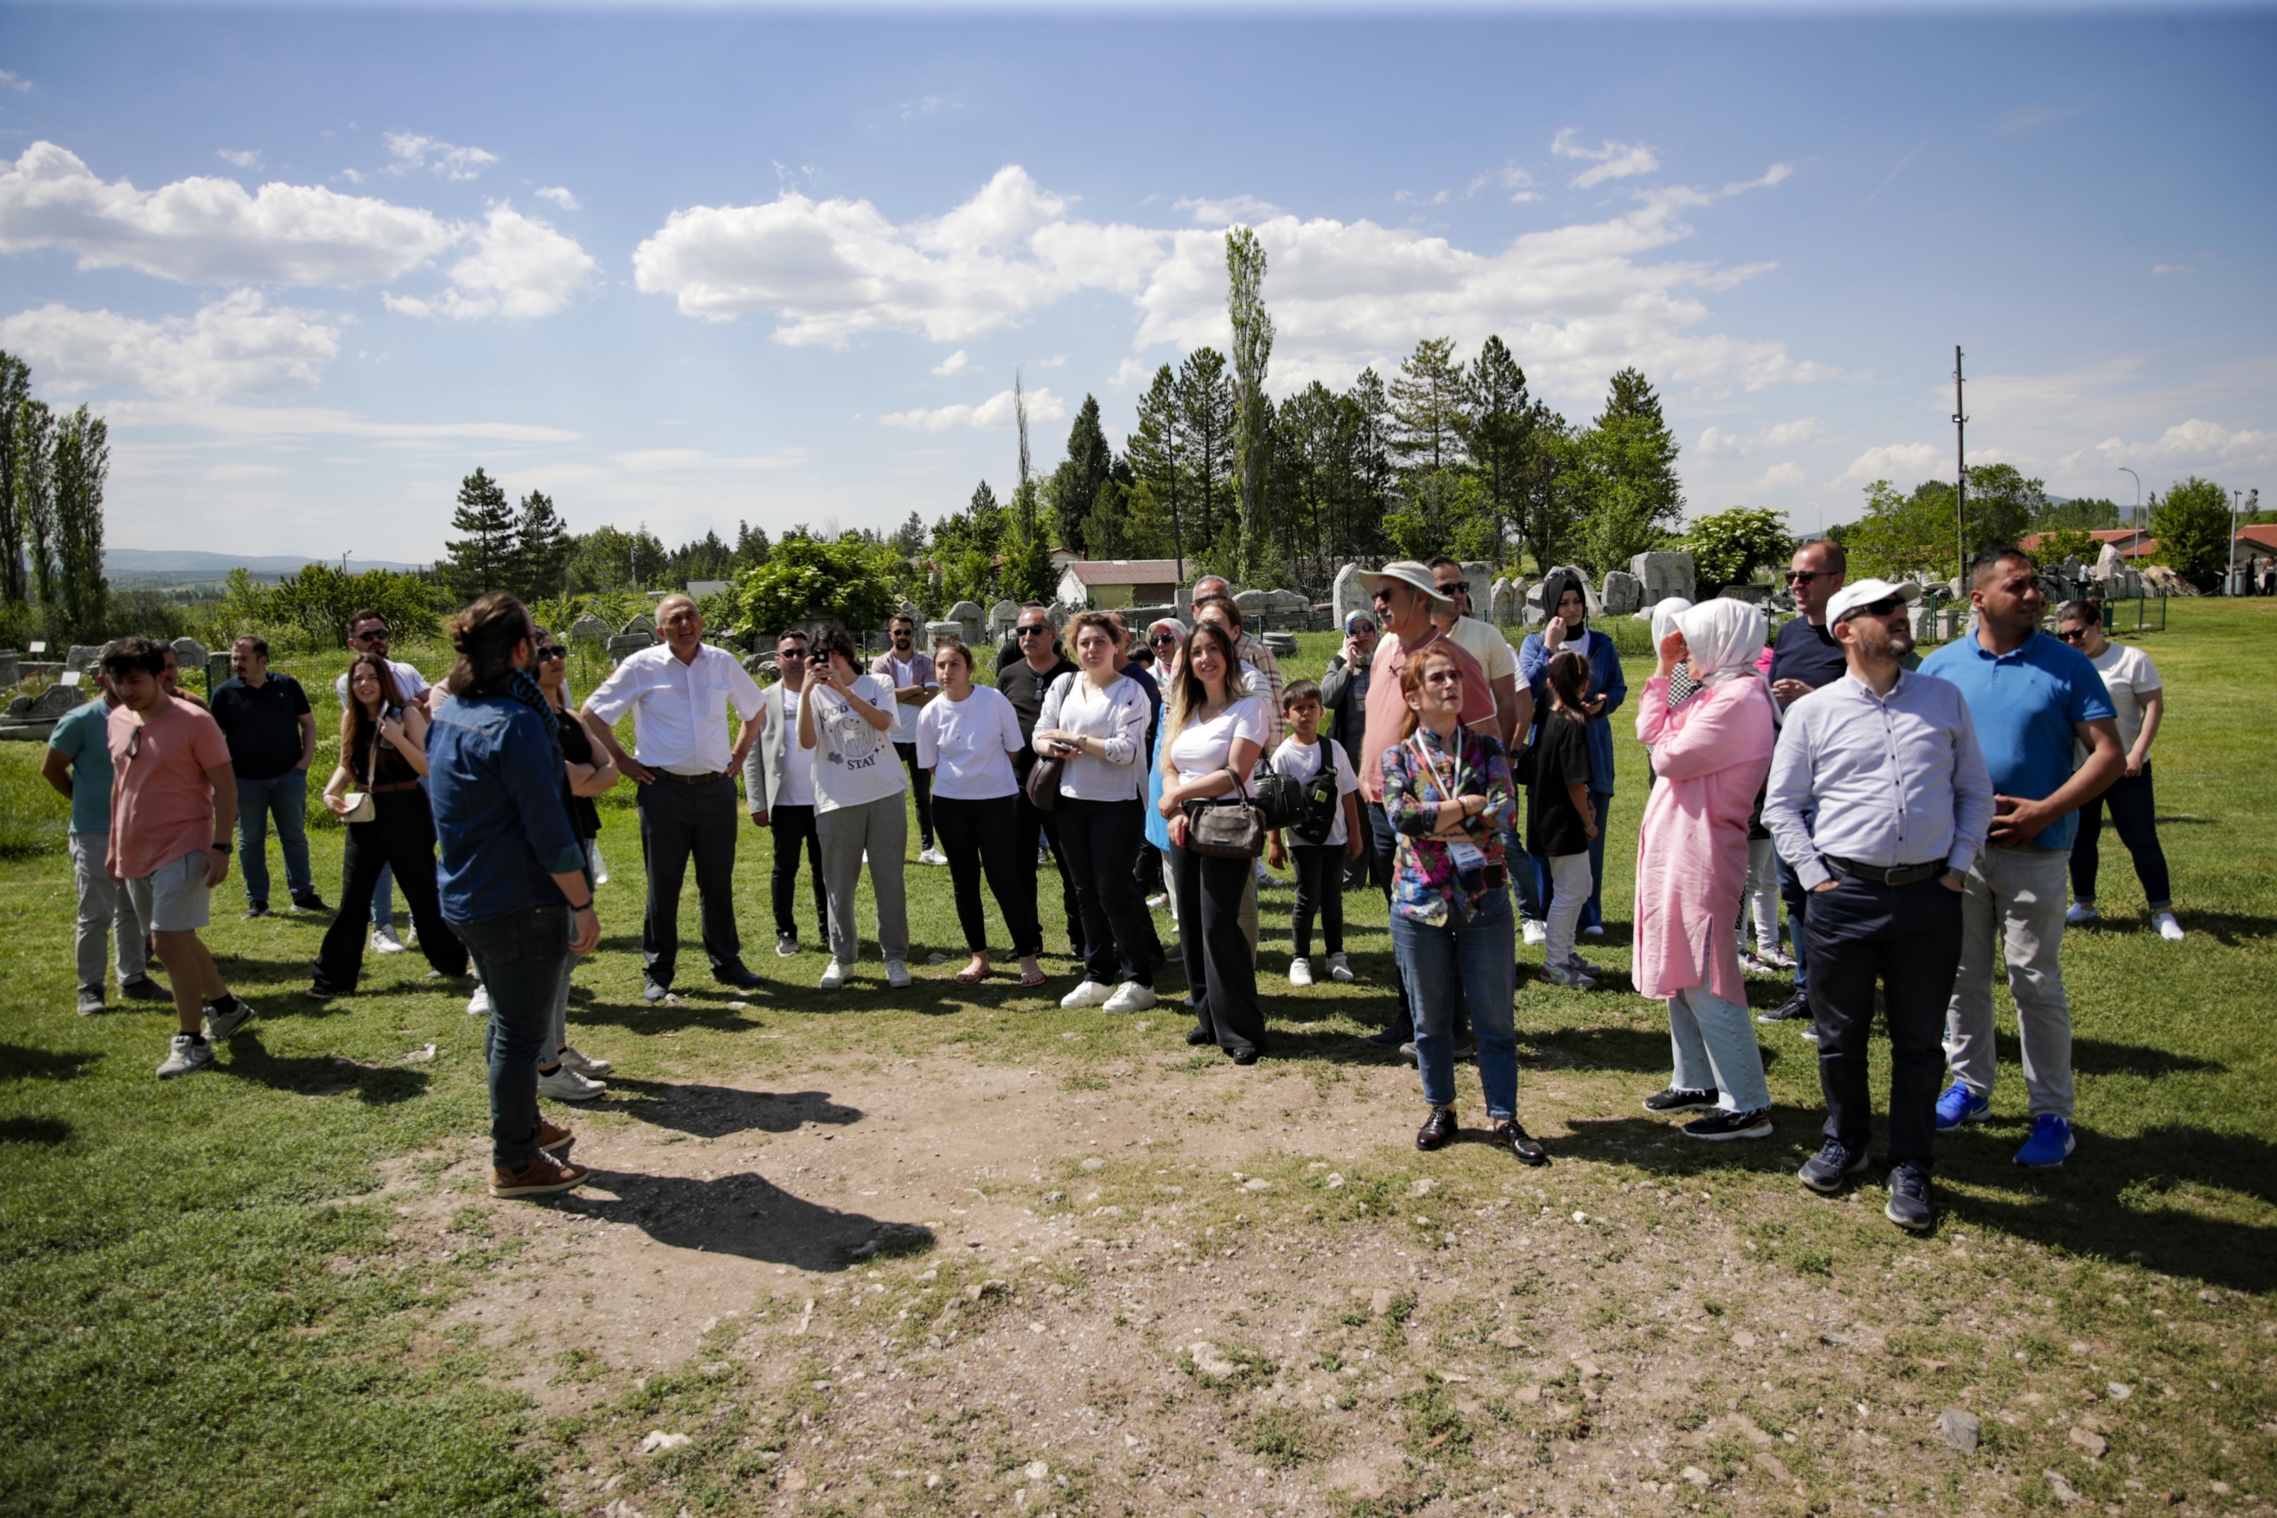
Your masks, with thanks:
<instances>
[{"instance_id":1,"label":"woman in long pink coat and pale headscarf, hand at face","mask_svg":"<svg viewBox=\"0 0 2277 1518\"><path fill-rule=\"evenodd\" d=\"M1756 674L1762 637L1762 612L1746 601L1678 612L1660 640L1660 674L1637 703L1637 737L1660 783L1637 835L1635 983L1637 995L1667 997L1676 1045L1676 1076L1644 1108L1715 1108L1685 1124L1692 1138L1772 1133L1772 1092L1731 935L1746 888L1746 819L1776 740L1772 692ZM1671 708L1678 665L1701 692Z\"/></svg>"}]
</instances>

